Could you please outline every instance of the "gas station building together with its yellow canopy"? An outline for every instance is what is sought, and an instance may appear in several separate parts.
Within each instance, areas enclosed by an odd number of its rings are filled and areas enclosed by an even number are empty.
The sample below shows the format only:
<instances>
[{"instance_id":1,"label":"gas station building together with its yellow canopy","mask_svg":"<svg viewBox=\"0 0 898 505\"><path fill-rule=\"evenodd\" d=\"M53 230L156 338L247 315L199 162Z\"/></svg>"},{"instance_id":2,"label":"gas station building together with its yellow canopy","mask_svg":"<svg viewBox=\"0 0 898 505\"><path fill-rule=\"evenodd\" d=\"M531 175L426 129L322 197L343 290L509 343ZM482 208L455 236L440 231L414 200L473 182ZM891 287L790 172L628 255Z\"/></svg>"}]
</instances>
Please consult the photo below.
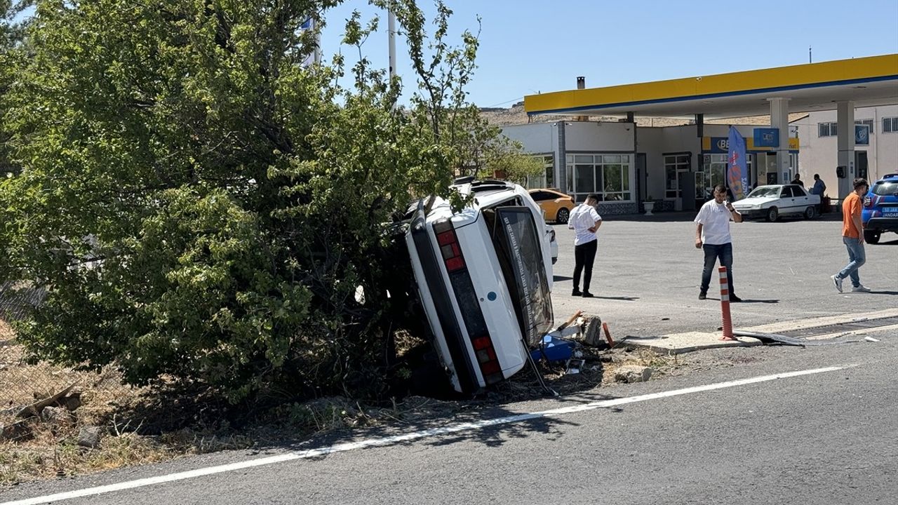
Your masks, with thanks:
<instances>
[{"instance_id":1,"label":"gas station building together with its yellow canopy","mask_svg":"<svg viewBox=\"0 0 898 505\"><path fill-rule=\"evenodd\" d=\"M842 199L856 177L898 172L898 54L534 94L524 110L570 117L503 127L543 157L546 174L535 185L577 201L597 193L606 214L636 213L647 197L662 210L710 199L726 179L729 125L707 120L770 116L769 125L732 125L745 138L750 187L819 173L829 196ZM806 115L790 124L797 112ZM636 118L690 124L646 127ZM813 155L803 159L803 150Z\"/></svg>"}]
</instances>

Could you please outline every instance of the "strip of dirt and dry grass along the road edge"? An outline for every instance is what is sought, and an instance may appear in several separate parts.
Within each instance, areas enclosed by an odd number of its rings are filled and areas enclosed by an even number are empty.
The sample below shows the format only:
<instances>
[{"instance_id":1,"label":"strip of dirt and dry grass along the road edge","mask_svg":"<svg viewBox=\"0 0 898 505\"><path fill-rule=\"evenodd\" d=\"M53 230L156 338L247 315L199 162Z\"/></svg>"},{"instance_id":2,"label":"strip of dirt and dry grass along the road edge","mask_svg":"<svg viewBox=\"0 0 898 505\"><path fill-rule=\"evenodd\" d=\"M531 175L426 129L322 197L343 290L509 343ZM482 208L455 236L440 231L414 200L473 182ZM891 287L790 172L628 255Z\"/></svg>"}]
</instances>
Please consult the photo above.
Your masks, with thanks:
<instances>
[{"instance_id":1,"label":"strip of dirt and dry grass along the road edge","mask_svg":"<svg viewBox=\"0 0 898 505\"><path fill-rule=\"evenodd\" d=\"M6 335L12 337L9 332ZM681 356L665 356L626 345L611 350L581 347L580 351L585 363L575 374L568 373L563 362L541 363L546 384L561 396L595 388L612 390L614 370L623 365L652 368L650 380L663 380L759 359L757 350L738 348ZM225 406L219 400L201 395L165 397L154 395L149 389L129 388L119 384L119 376L113 370L98 375L27 365L22 361L21 348L10 338L0 337L0 425L24 422L15 418L20 410L17 407L73 383L81 394L82 405L71 418L54 423L31 418L27 421L28 438L0 441L0 486L216 450L277 444L334 431L445 419L461 412L476 415L480 409L545 396L533 371L525 369L474 399L408 396L392 404L364 405L348 398L328 397L281 405L257 421L234 427L228 421L210 421L227 419L220 413ZM14 393L11 385L17 385ZM79 431L85 426L101 428L105 435L99 447L77 445ZM166 426L169 428L160 428Z\"/></svg>"}]
</instances>

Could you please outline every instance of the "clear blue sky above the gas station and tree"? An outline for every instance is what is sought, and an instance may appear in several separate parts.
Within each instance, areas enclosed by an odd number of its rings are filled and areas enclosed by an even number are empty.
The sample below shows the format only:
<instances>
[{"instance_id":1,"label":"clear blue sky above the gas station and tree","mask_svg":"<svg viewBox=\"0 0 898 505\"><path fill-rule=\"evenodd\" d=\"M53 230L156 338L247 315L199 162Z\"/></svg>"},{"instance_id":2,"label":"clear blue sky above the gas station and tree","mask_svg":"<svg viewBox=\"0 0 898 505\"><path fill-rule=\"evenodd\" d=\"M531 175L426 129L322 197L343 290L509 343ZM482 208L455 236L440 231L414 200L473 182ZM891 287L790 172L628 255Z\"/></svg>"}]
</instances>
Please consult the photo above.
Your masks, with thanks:
<instances>
[{"instance_id":1,"label":"clear blue sky above the gas station and tree","mask_svg":"<svg viewBox=\"0 0 898 505\"><path fill-rule=\"evenodd\" d=\"M432 19L433 4L418 4ZM453 43L477 31L471 102L510 106L525 94L898 53L898 0L446 0ZM387 66L386 13L347 0L327 14L322 55L339 50L353 10L381 15L365 53ZM401 36L397 69L413 84ZM355 59L343 49L348 65ZM898 71L898 69L896 69ZM348 84L348 83L347 83Z\"/></svg>"}]
</instances>

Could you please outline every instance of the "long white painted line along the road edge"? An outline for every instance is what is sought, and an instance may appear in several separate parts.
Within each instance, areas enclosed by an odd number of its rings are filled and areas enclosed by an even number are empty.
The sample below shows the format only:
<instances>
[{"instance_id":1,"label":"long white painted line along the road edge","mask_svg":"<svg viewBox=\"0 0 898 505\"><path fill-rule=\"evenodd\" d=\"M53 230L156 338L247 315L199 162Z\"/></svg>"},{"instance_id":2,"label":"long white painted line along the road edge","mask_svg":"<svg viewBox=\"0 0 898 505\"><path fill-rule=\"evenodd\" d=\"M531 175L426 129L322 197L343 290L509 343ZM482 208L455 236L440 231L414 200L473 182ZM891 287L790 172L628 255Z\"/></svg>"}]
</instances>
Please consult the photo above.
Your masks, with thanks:
<instances>
[{"instance_id":1,"label":"long white painted line along the road edge","mask_svg":"<svg viewBox=\"0 0 898 505\"><path fill-rule=\"evenodd\" d=\"M211 475L211 474L222 474L225 472L233 472L234 470L242 470L244 468L251 468L253 466L261 466L261 465L274 465L276 463L283 463L285 461L295 461L296 459L305 459L310 457L318 457L318 456L326 456L333 453L338 452L346 452L350 450L356 450L365 447L383 447L395 444L397 442L407 442L409 440L417 440L417 439L425 439L428 437L436 437L439 435L446 435L449 433L458 433L460 431L471 431L471 430L481 430L483 428L488 428L490 426L498 426L501 424L509 424L513 422L520 421L530 421L532 419L540 419L544 417L553 417L564 414L569 414L573 412L584 412L591 411L594 409L601 409L607 407L614 407L617 405L624 405L627 403L638 403L638 402L647 402L649 400L657 400L660 398L668 398L671 396L679 396L681 394L692 394L692 393L702 393L705 391L713 391L715 389L724 389L727 387L735 387L737 385L748 385L748 384L757 384L761 382L767 382L771 380L789 378L789 377L801 377L808 376L813 374L822 374L826 372L835 372L837 370L842 370L846 367L828 367L828 368L814 368L812 370L799 370L797 372L787 372L782 374L775 374L771 376L762 376L762 377L752 377L747 379L739 379L732 380L727 382L720 382L717 384L709 384L709 385L696 385L693 387L685 387L683 389L674 389L673 391L665 391L664 393L652 393L652 394L640 394L638 396L629 396L627 398L615 398L613 400L602 400L599 402L593 403L583 403L578 405L573 405L570 407L561 407L559 409L551 409L549 411L541 411L541 412L531 412L525 414L518 414L513 416L500 417L497 419L487 419L483 421L475 421L475 422L462 422L459 424L454 424L452 426L446 426L444 428L434 428L431 430L421 430L421 431L413 431L411 433L406 433L404 435L395 435L392 437L383 437L380 439L367 439L367 440L359 440L357 442L347 442L343 444L337 444L329 447L319 447L315 449L308 449L304 451L297 451L293 453L283 454L280 456L270 456L270 457L262 457L259 459L252 459L250 461L242 461L240 463L232 463L230 465L218 465L218 466L209 466L207 468L199 468L198 470L190 470L189 472L179 472L177 474L168 474L168 475L159 475L157 477L149 477L146 479L138 479L136 481L129 481L126 483L115 483L104 486L97 486L92 488L86 488L73 492L60 492L57 494L48 494L46 496L39 496L36 498L29 498L27 500L18 500L18 501L6 501L4 503L0 503L0 505L40 505L41 503L51 503L55 501L63 501L63 500L71 500L73 498L82 498L84 496L95 496L98 494L105 494L109 492L119 492L126 489L134 489L138 487L151 486L154 484L160 483L171 483L174 481L183 481L185 479L193 479L196 477L201 477L203 475Z\"/></svg>"}]
</instances>

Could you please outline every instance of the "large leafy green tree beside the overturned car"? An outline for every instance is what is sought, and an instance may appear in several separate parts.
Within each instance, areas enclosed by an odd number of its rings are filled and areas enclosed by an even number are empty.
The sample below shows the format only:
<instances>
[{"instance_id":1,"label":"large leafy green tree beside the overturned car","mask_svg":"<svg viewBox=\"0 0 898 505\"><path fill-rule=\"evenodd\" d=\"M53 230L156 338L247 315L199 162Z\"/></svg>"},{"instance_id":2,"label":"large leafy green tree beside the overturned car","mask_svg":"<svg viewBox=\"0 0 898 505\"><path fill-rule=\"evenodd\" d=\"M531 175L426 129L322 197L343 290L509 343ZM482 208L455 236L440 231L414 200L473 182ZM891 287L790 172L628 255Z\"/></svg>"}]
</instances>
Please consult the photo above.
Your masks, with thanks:
<instances>
[{"instance_id":1,"label":"large leafy green tree beside the overturned car","mask_svg":"<svg viewBox=\"0 0 898 505\"><path fill-rule=\"evenodd\" d=\"M384 223L462 167L477 38L389 6L417 70L304 66L338 0L38 0L4 98L0 275L48 288L17 327L33 359L134 384L382 394L397 265ZM362 52L377 21L348 20ZM468 132L468 133L466 133ZM458 200L456 198L456 200ZM358 294L364 292L365 297Z\"/></svg>"}]
</instances>

